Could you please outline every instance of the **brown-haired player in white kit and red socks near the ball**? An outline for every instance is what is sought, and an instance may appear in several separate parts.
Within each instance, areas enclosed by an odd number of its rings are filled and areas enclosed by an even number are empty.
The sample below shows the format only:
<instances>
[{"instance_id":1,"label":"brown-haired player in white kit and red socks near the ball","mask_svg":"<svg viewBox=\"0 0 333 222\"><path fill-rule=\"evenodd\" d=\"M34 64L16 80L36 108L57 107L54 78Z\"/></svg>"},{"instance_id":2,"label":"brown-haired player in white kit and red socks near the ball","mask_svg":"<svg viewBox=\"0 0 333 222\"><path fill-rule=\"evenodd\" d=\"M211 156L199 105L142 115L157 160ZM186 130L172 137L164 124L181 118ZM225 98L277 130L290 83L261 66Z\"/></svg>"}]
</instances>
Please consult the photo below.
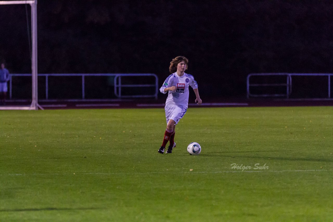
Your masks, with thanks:
<instances>
[{"instance_id":1,"label":"brown-haired player in white kit and red socks near the ball","mask_svg":"<svg viewBox=\"0 0 333 222\"><path fill-rule=\"evenodd\" d=\"M166 153L172 153L172 148L176 146L174 142L174 134L176 124L185 115L188 106L188 87L191 86L195 93L195 103L202 103L198 84L194 81L194 77L185 73L188 68L188 59L184 56L177 56L170 62L169 71L172 73L166 78L163 86L160 88L161 93L168 96L166 98L166 131L159 153L164 153L166 143L170 141Z\"/></svg>"}]
</instances>

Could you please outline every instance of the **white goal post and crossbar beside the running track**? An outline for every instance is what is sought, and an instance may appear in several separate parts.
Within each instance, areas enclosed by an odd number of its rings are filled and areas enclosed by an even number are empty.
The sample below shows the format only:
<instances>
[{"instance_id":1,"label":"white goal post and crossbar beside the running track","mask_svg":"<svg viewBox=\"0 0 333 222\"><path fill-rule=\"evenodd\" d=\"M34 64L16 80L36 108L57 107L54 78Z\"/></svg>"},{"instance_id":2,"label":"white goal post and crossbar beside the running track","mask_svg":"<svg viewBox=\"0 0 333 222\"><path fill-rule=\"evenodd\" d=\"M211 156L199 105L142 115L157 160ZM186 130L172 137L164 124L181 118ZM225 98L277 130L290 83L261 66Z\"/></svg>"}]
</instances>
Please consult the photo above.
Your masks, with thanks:
<instances>
[{"instance_id":1,"label":"white goal post and crossbar beside the running track","mask_svg":"<svg viewBox=\"0 0 333 222\"><path fill-rule=\"evenodd\" d=\"M37 0L29 1L0 1L0 5L30 4L31 6L31 79L32 79L32 100L30 107L16 107L16 110L38 110L43 108L38 104L38 72L37 72ZM10 107L8 107L10 109Z\"/></svg>"}]
</instances>

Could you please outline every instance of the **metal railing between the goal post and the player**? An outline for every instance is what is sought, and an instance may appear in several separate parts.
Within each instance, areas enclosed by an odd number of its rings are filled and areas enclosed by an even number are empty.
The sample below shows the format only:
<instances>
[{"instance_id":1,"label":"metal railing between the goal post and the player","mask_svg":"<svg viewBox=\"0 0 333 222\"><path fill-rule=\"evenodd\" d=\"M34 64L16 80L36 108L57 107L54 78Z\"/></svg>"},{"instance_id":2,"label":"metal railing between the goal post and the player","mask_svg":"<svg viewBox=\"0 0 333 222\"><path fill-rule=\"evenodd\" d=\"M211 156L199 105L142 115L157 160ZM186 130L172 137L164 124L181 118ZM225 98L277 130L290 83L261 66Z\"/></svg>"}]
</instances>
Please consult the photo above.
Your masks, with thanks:
<instances>
[{"instance_id":1,"label":"metal railing between the goal post and the player","mask_svg":"<svg viewBox=\"0 0 333 222\"><path fill-rule=\"evenodd\" d=\"M27 76L31 77L31 74L11 74L10 80L9 80L9 99L12 99L12 77L20 77L20 76ZM108 77L115 77L114 78L114 93L115 96L119 99L122 98L155 98L157 100L158 95L158 77L156 74L151 73L134 73L134 74L112 74L112 73L103 73L103 74L38 74L38 76L45 76L45 95L46 99L44 101L49 101L49 77L50 76L58 76L58 77L73 77L73 76L81 76L81 86L82 86L82 99L86 100L85 98L85 77L87 76L108 76ZM122 77L154 77L154 83L152 84L123 84L122 83ZM128 87L155 87L154 93L152 94L146 94L146 95L122 95L124 88ZM66 99L65 99L66 100ZM73 99L68 99L69 101L75 101ZM95 99L98 101L99 99ZM41 100L43 101L43 100Z\"/></svg>"}]
</instances>

